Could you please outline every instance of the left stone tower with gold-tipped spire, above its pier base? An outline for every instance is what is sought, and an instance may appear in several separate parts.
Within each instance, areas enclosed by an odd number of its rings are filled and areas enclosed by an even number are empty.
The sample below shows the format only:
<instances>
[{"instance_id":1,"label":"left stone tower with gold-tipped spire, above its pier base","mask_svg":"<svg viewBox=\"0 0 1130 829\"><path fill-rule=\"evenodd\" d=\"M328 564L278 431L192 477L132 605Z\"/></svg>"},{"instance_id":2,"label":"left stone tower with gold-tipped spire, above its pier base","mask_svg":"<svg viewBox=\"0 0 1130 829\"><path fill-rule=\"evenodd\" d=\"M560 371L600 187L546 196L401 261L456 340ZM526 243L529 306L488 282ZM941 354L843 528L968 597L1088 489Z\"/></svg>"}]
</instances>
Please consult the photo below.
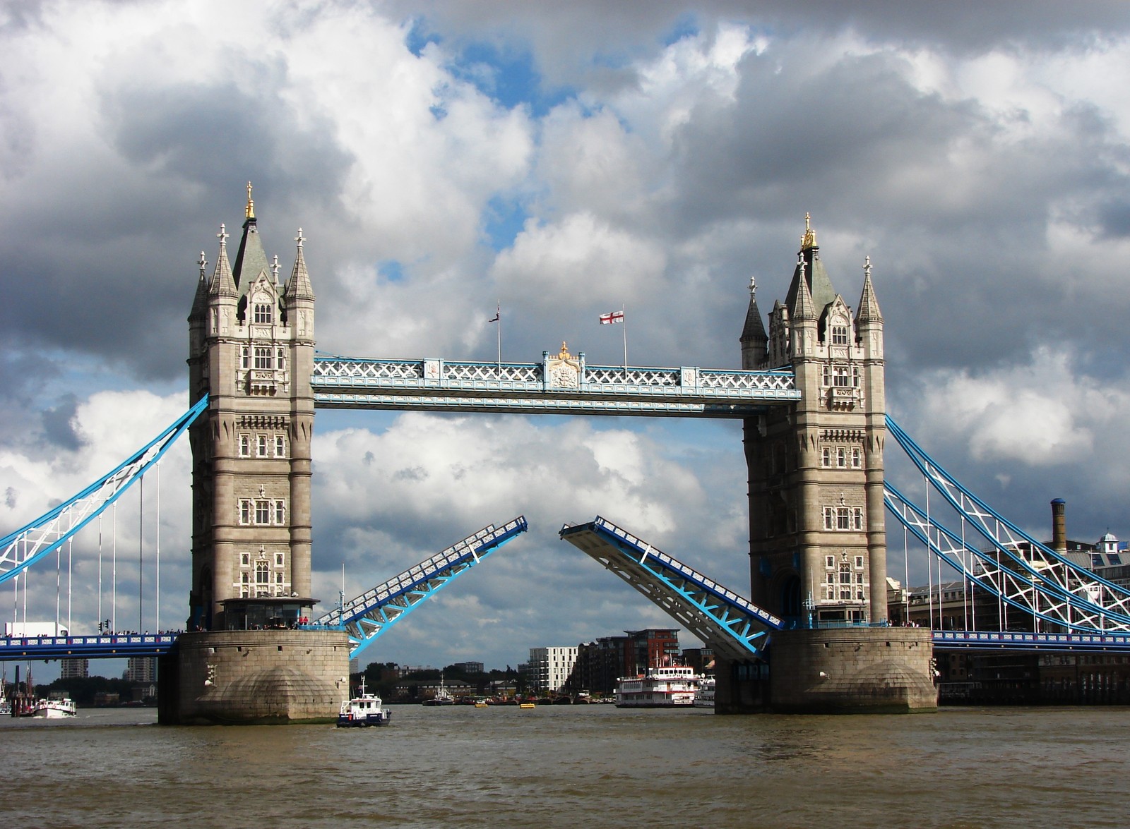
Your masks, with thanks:
<instances>
[{"instance_id":1,"label":"left stone tower with gold-tipped spire, above its pier base","mask_svg":"<svg viewBox=\"0 0 1130 829\"><path fill-rule=\"evenodd\" d=\"M190 629L266 627L308 617L310 444L314 428L314 291L302 230L290 278L267 260L247 185L243 237L226 236L210 280L201 267L189 317Z\"/></svg>"}]
</instances>

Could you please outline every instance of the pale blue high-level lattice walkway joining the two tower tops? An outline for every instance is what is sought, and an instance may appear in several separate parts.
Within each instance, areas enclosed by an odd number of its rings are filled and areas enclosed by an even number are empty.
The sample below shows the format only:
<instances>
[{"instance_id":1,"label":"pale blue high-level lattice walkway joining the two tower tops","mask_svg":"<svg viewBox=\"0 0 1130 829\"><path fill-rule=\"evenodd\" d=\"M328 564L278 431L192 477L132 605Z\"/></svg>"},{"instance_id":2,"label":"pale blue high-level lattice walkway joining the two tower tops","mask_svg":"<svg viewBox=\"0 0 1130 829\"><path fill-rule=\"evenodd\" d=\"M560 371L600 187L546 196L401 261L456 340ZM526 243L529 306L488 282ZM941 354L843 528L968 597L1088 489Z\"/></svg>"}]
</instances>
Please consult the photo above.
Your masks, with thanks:
<instances>
[{"instance_id":1,"label":"pale blue high-level lattice walkway joining the two tower tops","mask_svg":"<svg viewBox=\"0 0 1130 829\"><path fill-rule=\"evenodd\" d=\"M800 400L792 372L589 366L567 352L541 363L315 356L311 387L325 409L744 418Z\"/></svg>"}]
</instances>

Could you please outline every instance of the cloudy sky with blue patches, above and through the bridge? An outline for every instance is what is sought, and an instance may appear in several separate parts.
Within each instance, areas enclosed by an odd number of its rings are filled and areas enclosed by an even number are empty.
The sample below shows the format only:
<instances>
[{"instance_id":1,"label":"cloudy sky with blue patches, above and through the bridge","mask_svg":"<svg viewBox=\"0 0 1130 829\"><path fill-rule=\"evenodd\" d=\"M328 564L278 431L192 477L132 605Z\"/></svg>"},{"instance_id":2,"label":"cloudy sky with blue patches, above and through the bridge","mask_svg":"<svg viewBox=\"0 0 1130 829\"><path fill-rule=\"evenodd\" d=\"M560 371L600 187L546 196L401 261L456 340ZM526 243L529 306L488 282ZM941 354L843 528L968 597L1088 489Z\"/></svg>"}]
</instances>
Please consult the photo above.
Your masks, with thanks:
<instances>
[{"instance_id":1,"label":"cloudy sky with blue patches, above and through the bridge","mask_svg":"<svg viewBox=\"0 0 1130 829\"><path fill-rule=\"evenodd\" d=\"M623 307L633 365L738 368L808 212L849 305L871 258L894 419L1035 536L1063 498L1071 539L1130 539L1127 88L1123 2L0 2L0 530L188 408L197 262L251 181L284 273L306 238L319 350L353 357L494 359L497 304L503 359L616 365ZM314 471L322 607L531 525L363 663L673 625L559 540L598 514L748 588L737 424L320 411ZM186 445L160 477L159 619L129 495L101 591L97 533L73 544L73 630L183 625Z\"/></svg>"}]
</instances>

